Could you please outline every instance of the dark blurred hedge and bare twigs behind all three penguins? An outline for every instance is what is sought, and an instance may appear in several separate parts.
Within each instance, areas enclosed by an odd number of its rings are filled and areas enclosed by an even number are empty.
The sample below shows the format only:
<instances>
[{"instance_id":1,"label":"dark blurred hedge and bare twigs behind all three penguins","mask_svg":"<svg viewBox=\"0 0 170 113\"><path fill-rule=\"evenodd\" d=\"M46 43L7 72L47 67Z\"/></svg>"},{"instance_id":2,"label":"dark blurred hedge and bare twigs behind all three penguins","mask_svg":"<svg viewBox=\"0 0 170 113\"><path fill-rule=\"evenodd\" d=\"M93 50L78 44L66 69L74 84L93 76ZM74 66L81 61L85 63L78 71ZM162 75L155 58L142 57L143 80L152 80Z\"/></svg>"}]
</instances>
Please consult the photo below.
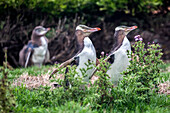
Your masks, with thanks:
<instances>
[{"instance_id":1,"label":"dark blurred hedge and bare twigs behind all three penguins","mask_svg":"<svg viewBox=\"0 0 170 113\"><path fill-rule=\"evenodd\" d=\"M160 43L163 59L169 60L169 11L169 0L0 0L0 65L7 47L9 64L19 66L19 51L38 25L53 28L47 34L53 62L72 56L66 48L74 48L70 42L78 24L101 27L91 36L98 55L109 52L116 26L137 25L139 29L128 36L130 41L141 34L145 42Z\"/></svg>"}]
</instances>

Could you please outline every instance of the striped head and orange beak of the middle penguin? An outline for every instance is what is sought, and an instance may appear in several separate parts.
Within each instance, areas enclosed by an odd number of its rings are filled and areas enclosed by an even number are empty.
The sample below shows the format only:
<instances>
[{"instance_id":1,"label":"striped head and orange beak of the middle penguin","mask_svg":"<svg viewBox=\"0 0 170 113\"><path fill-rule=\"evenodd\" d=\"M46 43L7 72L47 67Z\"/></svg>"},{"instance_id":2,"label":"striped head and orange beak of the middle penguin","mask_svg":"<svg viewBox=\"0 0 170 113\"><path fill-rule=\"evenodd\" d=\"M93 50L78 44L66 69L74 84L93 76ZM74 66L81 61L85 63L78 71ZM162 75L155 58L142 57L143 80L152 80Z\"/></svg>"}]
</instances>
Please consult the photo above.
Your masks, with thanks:
<instances>
[{"instance_id":1,"label":"striped head and orange beak of the middle penguin","mask_svg":"<svg viewBox=\"0 0 170 113\"><path fill-rule=\"evenodd\" d=\"M83 35L84 37L88 37L91 33L101 30L100 28L91 28L86 25L78 25L76 27L76 35Z\"/></svg>"}]
</instances>

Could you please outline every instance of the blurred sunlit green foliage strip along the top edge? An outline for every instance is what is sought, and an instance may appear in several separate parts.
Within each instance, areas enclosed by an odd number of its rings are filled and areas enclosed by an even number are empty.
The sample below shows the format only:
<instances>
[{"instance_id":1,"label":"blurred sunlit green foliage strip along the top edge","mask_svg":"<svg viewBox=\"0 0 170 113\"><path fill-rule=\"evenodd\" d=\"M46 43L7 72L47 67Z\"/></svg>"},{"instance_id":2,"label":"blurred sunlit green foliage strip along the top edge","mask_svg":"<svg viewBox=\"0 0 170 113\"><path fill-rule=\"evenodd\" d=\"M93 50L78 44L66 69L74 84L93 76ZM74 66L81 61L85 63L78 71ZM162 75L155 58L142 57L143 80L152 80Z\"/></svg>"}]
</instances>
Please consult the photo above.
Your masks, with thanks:
<instances>
[{"instance_id":1,"label":"blurred sunlit green foliage strip along the top edge","mask_svg":"<svg viewBox=\"0 0 170 113\"><path fill-rule=\"evenodd\" d=\"M115 11L125 11L132 14L145 12L150 13L157 10L163 5L162 0L145 0L145 1L129 1L129 0L1 0L0 5L4 8L12 7L21 10L26 7L27 9L41 10L48 14L61 16L63 14L71 15L86 10L106 11L113 13ZM89 13L89 12L88 12Z\"/></svg>"}]
</instances>

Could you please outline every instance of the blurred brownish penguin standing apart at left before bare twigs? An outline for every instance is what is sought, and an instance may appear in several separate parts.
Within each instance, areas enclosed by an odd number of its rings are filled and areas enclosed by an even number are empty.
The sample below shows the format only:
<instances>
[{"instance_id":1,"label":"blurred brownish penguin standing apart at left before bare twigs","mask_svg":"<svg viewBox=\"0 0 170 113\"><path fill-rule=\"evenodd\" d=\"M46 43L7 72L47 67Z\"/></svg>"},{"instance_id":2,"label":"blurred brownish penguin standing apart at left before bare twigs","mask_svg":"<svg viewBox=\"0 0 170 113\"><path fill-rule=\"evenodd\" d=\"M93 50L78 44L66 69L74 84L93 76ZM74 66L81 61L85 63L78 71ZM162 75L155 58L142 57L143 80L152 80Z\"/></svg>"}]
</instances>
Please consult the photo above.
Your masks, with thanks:
<instances>
[{"instance_id":1,"label":"blurred brownish penguin standing apart at left before bare twigs","mask_svg":"<svg viewBox=\"0 0 170 113\"><path fill-rule=\"evenodd\" d=\"M23 67L42 64L49 61L48 39L45 34L50 28L37 26L32 31L31 40L19 53L19 63Z\"/></svg>"}]
</instances>

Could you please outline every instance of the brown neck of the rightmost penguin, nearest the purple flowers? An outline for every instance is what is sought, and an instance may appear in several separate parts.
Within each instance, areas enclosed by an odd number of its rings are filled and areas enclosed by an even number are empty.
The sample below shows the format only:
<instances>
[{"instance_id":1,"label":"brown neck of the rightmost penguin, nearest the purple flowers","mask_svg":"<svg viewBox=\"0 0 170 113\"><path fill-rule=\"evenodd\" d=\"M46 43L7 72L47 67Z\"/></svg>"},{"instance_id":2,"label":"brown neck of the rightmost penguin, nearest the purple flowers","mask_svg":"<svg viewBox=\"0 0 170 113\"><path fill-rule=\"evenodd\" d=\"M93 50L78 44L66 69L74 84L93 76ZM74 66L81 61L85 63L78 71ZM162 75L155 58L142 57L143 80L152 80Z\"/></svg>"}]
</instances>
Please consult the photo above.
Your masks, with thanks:
<instances>
[{"instance_id":1,"label":"brown neck of the rightmost penguin, nearest the purple flowers","mask_svg":"<svg viewBox=\"0 0 170 113\"><path fill-rule=\"evenodd\" d=\"M123 40L126 37L124 31L116 31L114 34L115 44L112 47L111 53L117 51L123 44Z\"/></svg>"}]
</instances>

